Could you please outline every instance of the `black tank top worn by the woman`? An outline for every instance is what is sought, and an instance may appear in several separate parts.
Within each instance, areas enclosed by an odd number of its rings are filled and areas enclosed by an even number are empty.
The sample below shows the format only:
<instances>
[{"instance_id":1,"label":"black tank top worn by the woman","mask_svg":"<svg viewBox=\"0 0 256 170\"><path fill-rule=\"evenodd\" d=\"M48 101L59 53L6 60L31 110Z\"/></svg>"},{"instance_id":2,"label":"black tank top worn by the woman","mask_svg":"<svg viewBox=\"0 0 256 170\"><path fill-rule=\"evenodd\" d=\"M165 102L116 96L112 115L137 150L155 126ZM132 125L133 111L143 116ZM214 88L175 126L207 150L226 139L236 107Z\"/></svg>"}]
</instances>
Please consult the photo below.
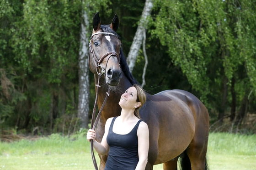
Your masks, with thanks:
<instances>
[{"instance_id":1,"label":"black tank top worn by the woman","mask_svg":"<svg viewBox=\"0 0 256 170\"><path fill-rule=\"evenodd\" d=\"M109 153L104 170L135 170L139 162L137 129L142 120L128 134L115 134L113 124L116 118L112 119L108 130Z\"/></svg>"}]
</instances>

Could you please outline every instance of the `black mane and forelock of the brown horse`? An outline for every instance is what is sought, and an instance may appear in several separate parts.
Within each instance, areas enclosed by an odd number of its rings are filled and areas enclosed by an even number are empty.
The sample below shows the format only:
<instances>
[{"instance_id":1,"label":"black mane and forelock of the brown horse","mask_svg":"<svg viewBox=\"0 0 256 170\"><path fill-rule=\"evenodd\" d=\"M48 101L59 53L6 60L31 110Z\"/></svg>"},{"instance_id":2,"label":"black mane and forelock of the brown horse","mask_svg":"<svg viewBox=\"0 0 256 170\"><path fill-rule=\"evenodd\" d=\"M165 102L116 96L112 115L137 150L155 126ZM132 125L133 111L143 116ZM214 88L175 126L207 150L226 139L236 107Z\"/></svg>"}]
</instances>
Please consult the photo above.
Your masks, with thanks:
<instances>
[{"instance_id":1,"label":"black mane and forelock of the brown horse","mask_svg":"<svg viewBox=\"0 0 256 170\"><path fill-rule=\"evenodd\" d=\"M118 36L117 33L110 28L110 25L101 25L101 30L102 30L102 32L113 33L118 37L118 39L120 39L120 36ZM128 78L128 80L131 82L132 85L133 84L139 84L139 82L137 82L135 80L135 78L133 77L132 73L129 70L128 64L127 64L126 59L123 55L122 48L120 49L120 66L121 66L121 69L122 69L124 75Z\"/></svg>"}]
</instances>

